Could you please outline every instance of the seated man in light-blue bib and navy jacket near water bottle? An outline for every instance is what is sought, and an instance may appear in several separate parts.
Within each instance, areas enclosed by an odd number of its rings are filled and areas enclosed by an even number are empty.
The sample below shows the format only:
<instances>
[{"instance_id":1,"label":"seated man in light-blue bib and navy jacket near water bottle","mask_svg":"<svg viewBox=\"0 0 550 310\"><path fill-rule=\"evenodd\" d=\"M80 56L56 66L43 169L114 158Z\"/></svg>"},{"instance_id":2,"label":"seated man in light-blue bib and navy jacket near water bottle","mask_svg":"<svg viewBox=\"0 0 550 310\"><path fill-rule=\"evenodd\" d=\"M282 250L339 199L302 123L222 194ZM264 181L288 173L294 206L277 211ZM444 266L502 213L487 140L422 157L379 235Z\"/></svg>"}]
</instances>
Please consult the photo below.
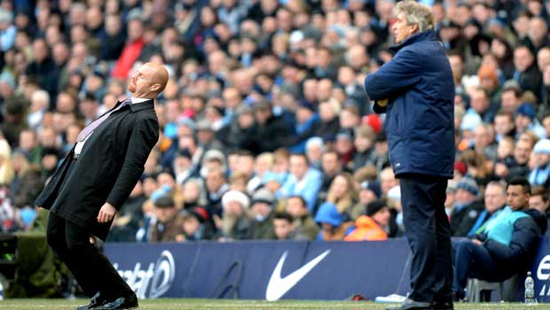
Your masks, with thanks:
<instances>
[{"instance_id":1,"label":"seated man in light-blue bib and navy jacket near water bottle","mask_svg":"<svg viewBox=\"0 0 550 310\"><path fill-rule=\"evenodd\" d=\"M546 226L541 213L528 210L529 198L529 181L513 179L507 187L507 206L485 223L483 233L453 242L455 299L464 298L468 278L504 281L529 268Z\"/></svg>"}]
</instances>

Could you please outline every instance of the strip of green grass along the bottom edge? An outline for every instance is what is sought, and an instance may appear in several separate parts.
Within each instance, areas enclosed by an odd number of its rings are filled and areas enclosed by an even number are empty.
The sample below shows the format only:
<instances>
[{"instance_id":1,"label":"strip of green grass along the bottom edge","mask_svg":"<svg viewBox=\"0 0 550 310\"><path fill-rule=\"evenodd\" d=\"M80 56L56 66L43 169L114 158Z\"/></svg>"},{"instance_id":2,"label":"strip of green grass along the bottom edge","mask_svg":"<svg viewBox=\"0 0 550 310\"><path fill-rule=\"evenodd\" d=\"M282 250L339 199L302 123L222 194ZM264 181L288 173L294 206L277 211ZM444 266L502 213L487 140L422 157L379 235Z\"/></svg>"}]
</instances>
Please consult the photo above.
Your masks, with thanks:
<instances>
[{"instance_id":1,"label":"strip of green grass along the bottom edge","mask_svg":"<svg viewBox=\"0 0 550 310\"><path fill-rule=\"evenodd\" d=\"M0 301L0 310L68 310L86 304L86 299L4 299ZM311 301L311 300L282 300L268 302L263 300L228 300L228 299L172 299L159 298L139 300L139 309L227 309L227 310L291 310L291 309L319 309L319 310L382 310L388 304L373 302L352 301ZM485 303L485 304L456 304L457 310L495 310L495 309L537 309L550 310L550 304L526 306L515 303Z\"/></svg>"}]
</instances>

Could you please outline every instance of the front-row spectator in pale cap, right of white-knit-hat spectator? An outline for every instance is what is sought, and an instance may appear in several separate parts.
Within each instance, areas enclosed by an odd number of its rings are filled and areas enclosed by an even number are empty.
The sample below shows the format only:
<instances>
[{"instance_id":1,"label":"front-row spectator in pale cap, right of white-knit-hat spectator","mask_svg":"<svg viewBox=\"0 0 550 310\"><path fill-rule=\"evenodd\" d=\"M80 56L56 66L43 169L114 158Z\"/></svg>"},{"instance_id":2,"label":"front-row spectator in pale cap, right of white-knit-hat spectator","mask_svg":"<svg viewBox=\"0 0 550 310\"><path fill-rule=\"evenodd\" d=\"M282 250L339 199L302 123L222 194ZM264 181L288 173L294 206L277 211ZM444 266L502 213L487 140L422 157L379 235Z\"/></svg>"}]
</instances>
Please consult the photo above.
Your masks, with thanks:
<instances>
[{"instance_id":1,"label":"front-row spectator in pale cap, right of white-knit-hat spectator","mask_svg":"<svg viewBox=\"0 0 550 310\"><path fill-rule=\"evenodd\" d=\"M273 206L275 195L270 190L261 188L252 195L250 211L254 215L254 239L266 240L275 237L273 228Z\"/></svg>"}]
</instances>

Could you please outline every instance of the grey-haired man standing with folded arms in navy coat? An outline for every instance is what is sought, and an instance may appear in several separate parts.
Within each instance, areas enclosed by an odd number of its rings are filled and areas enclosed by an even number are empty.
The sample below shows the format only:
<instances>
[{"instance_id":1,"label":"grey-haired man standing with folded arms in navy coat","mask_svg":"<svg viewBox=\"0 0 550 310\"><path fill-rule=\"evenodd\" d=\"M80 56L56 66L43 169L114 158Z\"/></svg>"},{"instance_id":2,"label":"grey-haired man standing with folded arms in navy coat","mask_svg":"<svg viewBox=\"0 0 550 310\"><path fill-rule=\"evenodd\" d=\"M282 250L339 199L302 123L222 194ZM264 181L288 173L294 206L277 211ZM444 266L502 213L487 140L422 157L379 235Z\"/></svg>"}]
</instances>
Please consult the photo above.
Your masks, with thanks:
<instances>
[{"instance_id":1,"label":"grey-haired man standing with folded arms in navy coat","mask_svg":"<svg viewBox=\"0 0 550 310\"><path fill-rule=\"evenodd\" d=\"M397 4L395 56L365 79L375 112L386 112L391 166L400 180L412 290L394 309L452 309L449 221L444 211L454 162L451 66L427 6Z\"/></svg>"}]
</instances>

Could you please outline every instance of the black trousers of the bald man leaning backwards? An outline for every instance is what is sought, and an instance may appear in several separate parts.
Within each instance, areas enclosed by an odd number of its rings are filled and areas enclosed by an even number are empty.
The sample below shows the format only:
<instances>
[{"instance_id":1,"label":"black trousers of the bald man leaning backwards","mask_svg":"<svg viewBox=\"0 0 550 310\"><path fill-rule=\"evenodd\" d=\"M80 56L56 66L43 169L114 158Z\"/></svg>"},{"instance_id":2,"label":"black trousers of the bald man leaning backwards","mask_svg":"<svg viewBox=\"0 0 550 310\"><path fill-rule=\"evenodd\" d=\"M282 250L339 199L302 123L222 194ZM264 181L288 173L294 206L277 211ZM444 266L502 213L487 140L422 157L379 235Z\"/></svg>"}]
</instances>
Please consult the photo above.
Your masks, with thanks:
<instances>
[{"instance_id":1,"label":"black trousers of the bald man leaning backwards","mask_svg":"<svg viewBox=\"0 0 550 310\"><path fill-rule=\"evenodd\" d=\"M50 213L46 238L86 295L98 291L106 298L133 294L106 256L90 244L90 234L82 227Z\"/></svg>"}]
</instances>

